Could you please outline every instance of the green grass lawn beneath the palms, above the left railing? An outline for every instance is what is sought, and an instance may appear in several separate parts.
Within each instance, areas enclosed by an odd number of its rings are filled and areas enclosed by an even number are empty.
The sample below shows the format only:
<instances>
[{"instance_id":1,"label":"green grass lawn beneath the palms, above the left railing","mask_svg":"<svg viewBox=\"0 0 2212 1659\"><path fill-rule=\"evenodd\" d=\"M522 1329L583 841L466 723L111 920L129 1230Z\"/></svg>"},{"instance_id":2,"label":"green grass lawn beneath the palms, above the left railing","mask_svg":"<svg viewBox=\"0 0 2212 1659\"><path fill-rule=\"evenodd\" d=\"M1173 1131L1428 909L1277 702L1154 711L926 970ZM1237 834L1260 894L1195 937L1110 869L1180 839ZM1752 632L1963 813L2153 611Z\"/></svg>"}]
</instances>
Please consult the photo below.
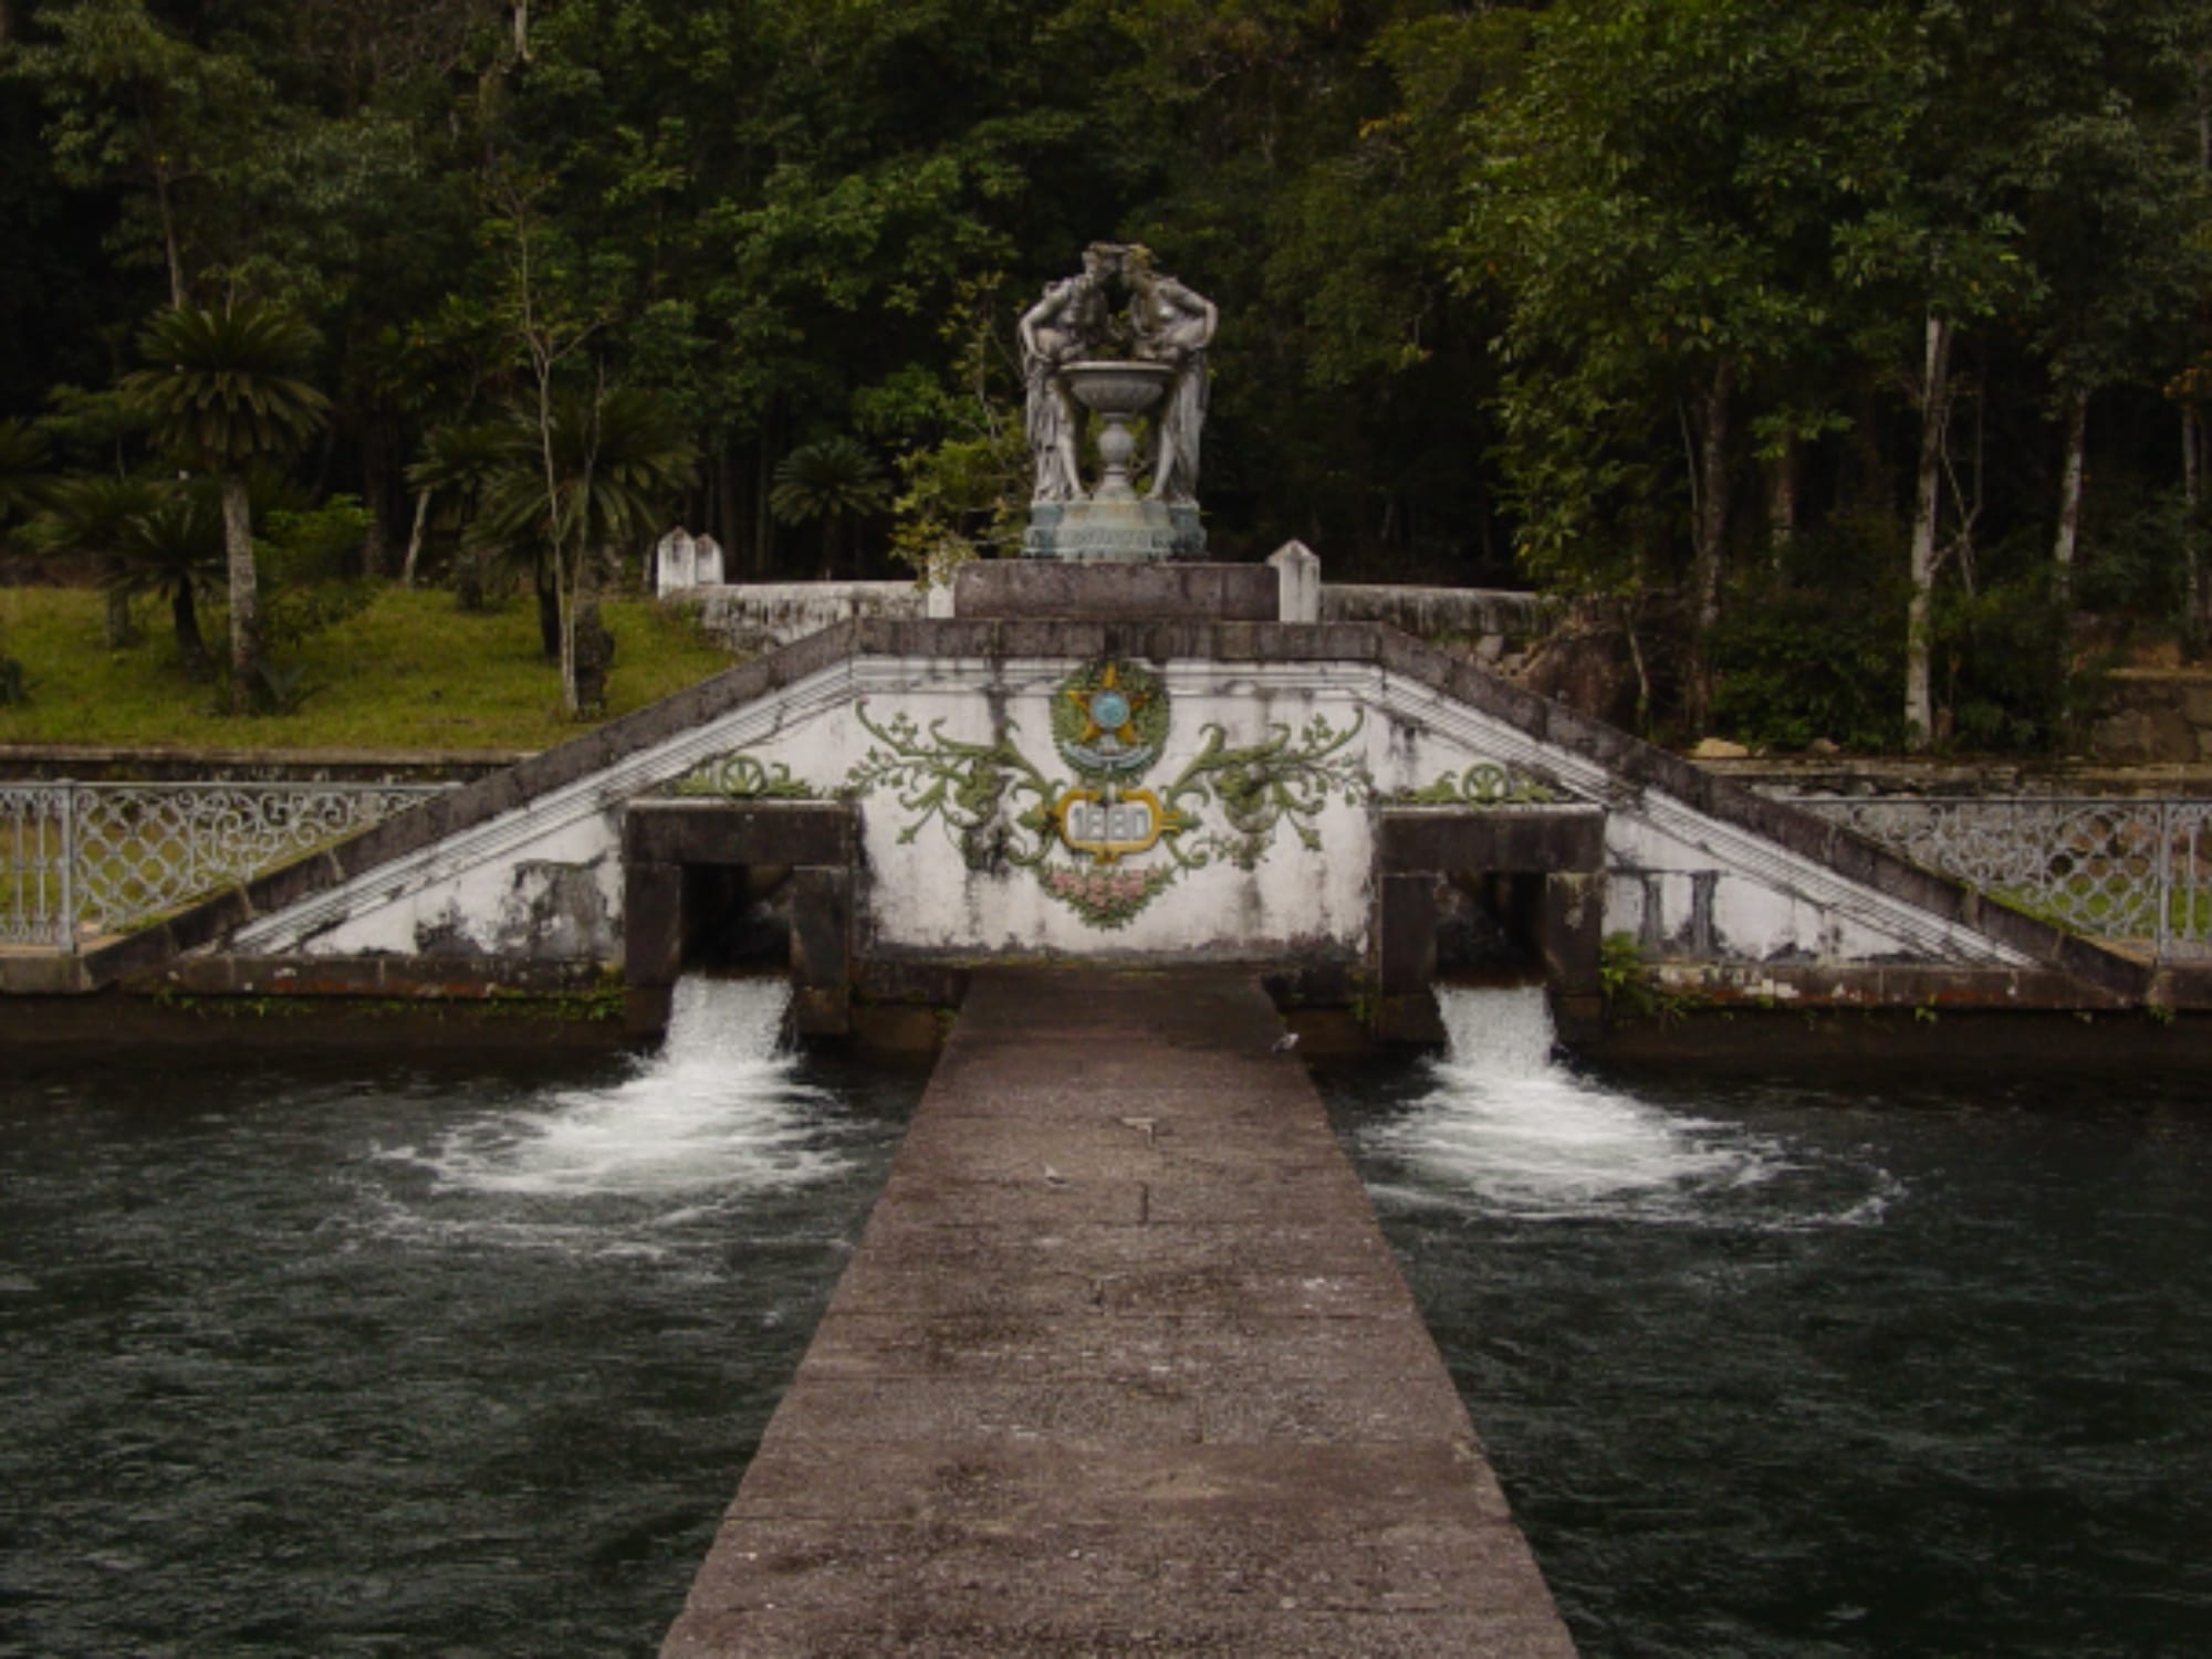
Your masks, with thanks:
<instances>
[{"instance_id":1,"label":"green grass lawn beneath the palms, above the left railing","mask_svg":"<svg viewBox=\"0 0 2212 1659\"><path fill-rule=\"evenodd\" d=\"M690 622L650 599L608 599L615 635L608 714L626 714L730 666ZM102 644L102 597L84 588L0 588L0 657L18 657L31 701L0 708L0 743L131 748L540 750L588 730L560 712L560 670L538 655L522 599L462 615L440 591L376 591L365 611L310 635L281 661L310 688L294 714L228 717L221 686L177 666L168 611L139 606L144 639ZM201 615L210 646L219 608Z\"/></svg>"}]
</instances>

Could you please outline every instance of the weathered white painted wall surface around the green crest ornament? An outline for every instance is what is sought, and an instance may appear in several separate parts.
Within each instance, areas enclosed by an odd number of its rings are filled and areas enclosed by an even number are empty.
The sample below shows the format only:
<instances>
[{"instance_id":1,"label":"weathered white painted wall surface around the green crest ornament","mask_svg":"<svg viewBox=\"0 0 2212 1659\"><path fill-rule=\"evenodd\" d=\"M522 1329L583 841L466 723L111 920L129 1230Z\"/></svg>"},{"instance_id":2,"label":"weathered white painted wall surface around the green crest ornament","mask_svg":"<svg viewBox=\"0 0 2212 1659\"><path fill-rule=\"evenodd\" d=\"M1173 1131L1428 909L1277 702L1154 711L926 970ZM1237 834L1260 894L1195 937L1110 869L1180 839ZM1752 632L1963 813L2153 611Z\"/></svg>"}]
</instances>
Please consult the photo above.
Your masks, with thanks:
<instances>
[{"instance_id":1,"label":"weathered white painted wall surface around the green crest ornament","mask_svg":"<svg viewBox=\"0 0 2212 1659\"><path fill-rule=\"evenodd\" d=\"M880 726L905 714L922 732L991 743L1004 734L1057 783L1068 783L1051 739L1053 699L1073 661L947 661L867 657L827 668L723 719L684 732L524 810L460 832L345 887L252 922L246 951L418 953L482 949L542 956L619 956L622 803L697 765L750 754L785 765L827 794L838 790ZM1624 794L1595 763L1531 739L1374 664L1159 666L1172 710L1161 759L1144 785L1164 787L1219 726L1228 745L1265 741L1270 728L1303 732L1314 717L1334 730L1360 723L1356 754L1378 796L1460 774L1473 761L1511 765L1562 794L1608 805L1610 880L1606 929L1655 936L1670 956L1690 953L1694 898L1710 891L1705 931L1714 960L1949 960L2022 958L1880 891L1717 823L1657 792ZM1332 796L1314 814L1321 847L1283 825L1265 858L1243 872L1214 863L1175 883L1124 927L1102 929L1053 898L1020 867L969 869L940 823L920 823L918 790L860 803L863 929L878 951L1009 956L1254 958L1332 949L1360 953L1369 931L1371 827L1365 805ZM1615 799L1619 796L1619 799ZM1219 803L1201 814L1219 825ZM911 830L911 834L907 834ZM1071 865L1062 847L1057 865ZM1166 849L1128 860L1159 869ZM560 869L568 867L566 878ZM546 916L549 885L575 900L588 880L602 907ZM1646 916L1657 896L1657 916ZM577 911L571 902L568 911ZM599 938L582 942L593 929Z\"/></svg>"}]
</instances>

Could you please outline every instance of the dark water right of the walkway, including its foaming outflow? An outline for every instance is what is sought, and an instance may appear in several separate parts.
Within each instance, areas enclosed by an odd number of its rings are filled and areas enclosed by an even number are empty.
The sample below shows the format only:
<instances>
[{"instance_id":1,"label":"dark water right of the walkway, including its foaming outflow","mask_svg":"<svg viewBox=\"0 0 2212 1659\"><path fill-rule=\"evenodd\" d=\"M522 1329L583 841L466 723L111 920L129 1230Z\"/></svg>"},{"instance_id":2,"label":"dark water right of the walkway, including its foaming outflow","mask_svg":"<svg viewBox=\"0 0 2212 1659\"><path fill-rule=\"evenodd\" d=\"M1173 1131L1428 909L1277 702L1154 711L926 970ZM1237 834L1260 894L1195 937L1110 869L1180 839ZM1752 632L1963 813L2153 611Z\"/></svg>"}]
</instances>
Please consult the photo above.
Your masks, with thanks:
<instances>
[{"instance_id":1,"label":"dark water right of the walkway, including its foaming outflow","mask_svg":"<svg viewBox=\"0 0 2212 1659\"><path fill-rule=\"evenodd\" d=\"M1586 1655L2212 1655L2212 1082L1327 1075Z\"/></svg>"}]
</instances>

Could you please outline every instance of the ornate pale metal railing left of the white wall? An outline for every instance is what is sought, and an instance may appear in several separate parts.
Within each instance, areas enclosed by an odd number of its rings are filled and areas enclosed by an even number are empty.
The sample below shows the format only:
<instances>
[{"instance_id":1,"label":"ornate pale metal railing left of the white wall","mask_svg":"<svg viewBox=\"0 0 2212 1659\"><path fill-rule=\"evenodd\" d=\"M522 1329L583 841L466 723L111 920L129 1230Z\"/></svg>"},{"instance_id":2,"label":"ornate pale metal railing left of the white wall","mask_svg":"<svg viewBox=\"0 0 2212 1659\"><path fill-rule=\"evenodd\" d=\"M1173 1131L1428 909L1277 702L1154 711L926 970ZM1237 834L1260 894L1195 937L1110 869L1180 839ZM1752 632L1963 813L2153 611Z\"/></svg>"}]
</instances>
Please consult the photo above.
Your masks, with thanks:
<instances>
[{"instance_id":1,"label":"ornate pale metal railing left of the white wall","mask_svg":"<svg viewBox=\"0 0 2212 1659\"><path fill-rule=\"evenodd\" d=\"M0 945L128 933L447 787L0 783Z\"/></svg>"}]
</instances>

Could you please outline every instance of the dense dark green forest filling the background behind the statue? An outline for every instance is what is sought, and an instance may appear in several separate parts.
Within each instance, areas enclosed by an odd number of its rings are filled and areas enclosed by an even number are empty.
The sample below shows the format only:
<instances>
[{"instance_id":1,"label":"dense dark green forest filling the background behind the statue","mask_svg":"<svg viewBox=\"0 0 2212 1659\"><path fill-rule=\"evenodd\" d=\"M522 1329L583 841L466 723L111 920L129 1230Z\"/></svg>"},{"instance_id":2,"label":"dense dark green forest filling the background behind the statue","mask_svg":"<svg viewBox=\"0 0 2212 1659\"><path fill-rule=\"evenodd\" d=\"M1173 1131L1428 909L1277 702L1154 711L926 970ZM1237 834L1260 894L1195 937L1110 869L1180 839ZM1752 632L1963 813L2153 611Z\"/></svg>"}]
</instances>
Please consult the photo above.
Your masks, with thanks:
<instances>
[{"instance_id":1,"label":"dense dark green forest filling the background behind the statue","mask_svg":"<svg viewBox=\"0 0 2212 1659\"><path fill-rule=\"evenodd\" d=\"M535 573L575 690L677 518L1006 551L1110 237L1221 307L1217 553L1575 595L1661 732L2037 748L2212 622L2208 173L2212 0L0 0L0 533L188 659L228 582L241 701L257 546Z\"/></svg>"}]
</instances>

